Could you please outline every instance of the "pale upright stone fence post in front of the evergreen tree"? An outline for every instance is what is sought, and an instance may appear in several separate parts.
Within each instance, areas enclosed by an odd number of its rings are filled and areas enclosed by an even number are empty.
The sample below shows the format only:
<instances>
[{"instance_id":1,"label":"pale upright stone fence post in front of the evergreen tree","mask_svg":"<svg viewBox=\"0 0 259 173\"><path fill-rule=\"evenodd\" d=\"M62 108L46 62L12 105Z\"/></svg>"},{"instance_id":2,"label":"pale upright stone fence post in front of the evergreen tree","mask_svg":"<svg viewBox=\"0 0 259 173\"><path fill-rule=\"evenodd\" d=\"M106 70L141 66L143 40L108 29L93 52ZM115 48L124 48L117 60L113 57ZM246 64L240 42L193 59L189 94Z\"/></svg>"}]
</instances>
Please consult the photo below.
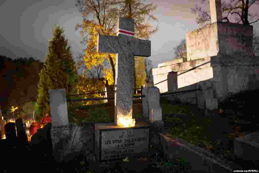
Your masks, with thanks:
<instances>
[{"instance_id":1,"label":"pale upright stone fence post in front of the evergreen tree","mask_svg":"<svg viewBox=\"0 0 259 173\"><path fill-rule=\"evenodd\" d=\"M68 124L66 89L49 89L52 126Z\"/></svg>"}]
</instances>

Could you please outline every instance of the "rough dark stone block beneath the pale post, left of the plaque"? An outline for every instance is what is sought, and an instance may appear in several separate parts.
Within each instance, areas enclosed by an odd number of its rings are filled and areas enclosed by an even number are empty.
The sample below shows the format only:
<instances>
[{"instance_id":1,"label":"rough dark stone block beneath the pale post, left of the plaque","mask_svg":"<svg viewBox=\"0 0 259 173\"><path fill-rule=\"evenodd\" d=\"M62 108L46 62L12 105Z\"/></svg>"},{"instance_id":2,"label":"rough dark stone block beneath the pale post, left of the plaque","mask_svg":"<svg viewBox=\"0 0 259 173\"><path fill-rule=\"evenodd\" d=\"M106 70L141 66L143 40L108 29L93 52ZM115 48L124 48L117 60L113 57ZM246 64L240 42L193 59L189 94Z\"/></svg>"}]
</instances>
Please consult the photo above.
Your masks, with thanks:
<instances>
[{"instance_id":1,"label":"rough dark stone block beneath the pale post, left of the plaque","mask_svg":"<svg viewBox=\"0 0 259 173\"><path fill-rule=\"evenodd\" d=\"M88 157L93 152L93 123L82 122L82 126L68 124L51 128L53 156L57 162L68 162L82 154Z\"/></svg>"}]
</instances>

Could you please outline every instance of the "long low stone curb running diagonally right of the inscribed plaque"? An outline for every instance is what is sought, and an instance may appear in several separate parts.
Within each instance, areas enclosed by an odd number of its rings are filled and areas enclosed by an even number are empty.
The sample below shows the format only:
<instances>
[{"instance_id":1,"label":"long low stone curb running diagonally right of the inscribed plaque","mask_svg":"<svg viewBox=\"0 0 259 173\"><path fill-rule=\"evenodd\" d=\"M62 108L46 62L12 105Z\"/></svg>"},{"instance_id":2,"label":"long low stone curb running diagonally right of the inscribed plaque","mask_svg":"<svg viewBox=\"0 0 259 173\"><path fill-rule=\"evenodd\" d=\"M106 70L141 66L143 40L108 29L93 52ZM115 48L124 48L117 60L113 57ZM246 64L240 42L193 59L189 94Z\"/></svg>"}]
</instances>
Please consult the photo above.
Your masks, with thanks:
<instances>
[{"instance_id":1,"label":"long low stone curb running diagonally right of the inscribed plaque","mask_svg":"<svg viewBox=\"0 0 259 173\"><path fill-rule=\"evenodd\" d=\"M208 150L201 149L193 144L174 138L170 134L160 134L164 153L170 158L186 158L193 172L232 172L235 169L242 169L239 165L231 161L218 158Z\"/></svg>"}]
</instances>

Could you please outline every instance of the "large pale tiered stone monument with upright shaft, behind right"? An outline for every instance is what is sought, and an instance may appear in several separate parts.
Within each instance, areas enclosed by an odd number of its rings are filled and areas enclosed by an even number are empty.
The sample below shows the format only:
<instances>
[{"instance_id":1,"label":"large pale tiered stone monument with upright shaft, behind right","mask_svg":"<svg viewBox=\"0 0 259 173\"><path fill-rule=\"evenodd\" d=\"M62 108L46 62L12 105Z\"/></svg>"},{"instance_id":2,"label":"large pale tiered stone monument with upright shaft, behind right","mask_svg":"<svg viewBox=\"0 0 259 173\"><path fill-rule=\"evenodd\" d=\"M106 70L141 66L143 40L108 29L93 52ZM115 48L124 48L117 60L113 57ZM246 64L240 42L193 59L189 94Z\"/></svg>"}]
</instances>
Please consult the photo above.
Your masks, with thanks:
<instances>
[{"instance_id":1,"label":"large pale tiered stone monument with upright shaft, behind right","mask_svg":"<svg viewBox=\"0 0 259 173\"><path fill-rule=\"evenodd\" d=\"M186 61L168 61L152 69L161 93L201 89L165 96L168 100L217 109L217 102L229 93L259 87L253 26L222 22L221 0L210 0L210 14L210 24L186 33Z\"/></svg>"}]
</instances>

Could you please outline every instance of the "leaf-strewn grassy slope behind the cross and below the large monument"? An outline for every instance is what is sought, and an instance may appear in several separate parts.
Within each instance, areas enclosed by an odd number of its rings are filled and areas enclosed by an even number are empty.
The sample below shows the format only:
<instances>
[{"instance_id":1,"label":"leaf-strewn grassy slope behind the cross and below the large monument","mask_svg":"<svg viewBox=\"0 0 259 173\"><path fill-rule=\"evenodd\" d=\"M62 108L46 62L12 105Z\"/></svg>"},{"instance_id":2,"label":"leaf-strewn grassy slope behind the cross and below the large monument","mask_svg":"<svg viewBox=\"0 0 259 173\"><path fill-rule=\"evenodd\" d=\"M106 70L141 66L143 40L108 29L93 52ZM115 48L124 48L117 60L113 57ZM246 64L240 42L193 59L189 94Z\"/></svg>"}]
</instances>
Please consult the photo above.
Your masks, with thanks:
<instances>
[{"instance_id":1,"label":"leaf-strewn grassy slope behind the cross and below the large monument","mask_svg":"<svg viewBox=\"0 0 259 173\"><path fill-rule=\"evenodd\" d=\"M258 95L258 91L230 95L219 105L219 109L207 113L199 110L196 105L170 103L161 97L164 126L173 138L179 137L195 146L209 150L219 158L233 161L243 168L256 168L258 165L256 161L244 161L235 157L233 142L236 137L256 132L259 128L259 123L255 121L256 103L251 99ZM100 122L112 122L114 107L103 106L74 110L77 112L77 115L74 115L79 122L83 119L91 121L96 117ZM141 106L141 99L134 100L133 118L136 121L142 116ZM80 111L85 112L87 118L80 116ZM188 158L181 159L186 159L188 162Z\"/></svg>"}]
</instances>

